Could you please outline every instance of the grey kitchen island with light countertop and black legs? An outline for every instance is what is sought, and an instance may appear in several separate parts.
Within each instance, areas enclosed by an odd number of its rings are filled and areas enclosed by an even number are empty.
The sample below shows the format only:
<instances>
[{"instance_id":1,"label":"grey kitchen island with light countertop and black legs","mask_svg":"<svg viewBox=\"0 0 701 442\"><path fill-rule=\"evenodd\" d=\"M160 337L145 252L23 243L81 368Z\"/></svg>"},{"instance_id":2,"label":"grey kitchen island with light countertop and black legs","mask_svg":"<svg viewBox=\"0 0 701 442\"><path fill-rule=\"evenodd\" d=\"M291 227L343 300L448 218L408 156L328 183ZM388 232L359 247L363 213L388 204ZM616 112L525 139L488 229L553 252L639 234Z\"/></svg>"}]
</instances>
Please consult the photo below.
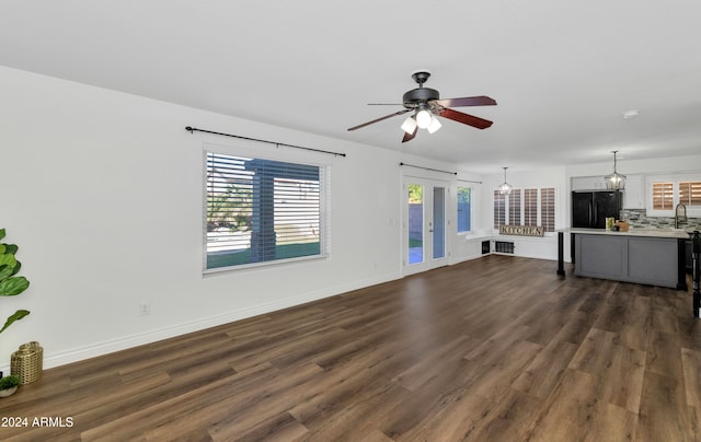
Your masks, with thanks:
<instances>
[{"instance_id":1,"label":"grey kitchen island with light countertop and black legs","mask_svg":"<svg viewBox=\"0 0 701 442\"><path fill-rule=\"evenodd\" d=\"M604 229L558 231L558 274L564 275L563 234L572 237L574 275L686 290L685 241L671 229Z\"/></svg>"}]
</instances>

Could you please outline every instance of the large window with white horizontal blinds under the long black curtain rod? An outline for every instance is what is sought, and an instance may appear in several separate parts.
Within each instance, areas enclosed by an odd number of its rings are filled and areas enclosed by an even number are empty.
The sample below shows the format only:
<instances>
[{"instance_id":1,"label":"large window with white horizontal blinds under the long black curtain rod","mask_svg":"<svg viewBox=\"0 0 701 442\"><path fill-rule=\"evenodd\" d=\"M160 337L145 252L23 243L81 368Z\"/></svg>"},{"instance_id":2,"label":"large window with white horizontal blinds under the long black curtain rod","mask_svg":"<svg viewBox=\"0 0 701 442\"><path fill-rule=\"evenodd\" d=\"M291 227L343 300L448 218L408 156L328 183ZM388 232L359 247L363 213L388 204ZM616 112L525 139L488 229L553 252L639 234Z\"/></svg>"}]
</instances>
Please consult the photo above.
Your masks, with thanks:
<instances>
[{"instance_id":1,"label":"large window with white horizontal blinds under the long black curtain rod","mask_svg":"<svg viewBox=\"0 0 701 442\"><path fill-rule=\"evenodd\" d=\"M206 154L206 269L324 254L317 165Z\"/></svg>"}]
</instances>

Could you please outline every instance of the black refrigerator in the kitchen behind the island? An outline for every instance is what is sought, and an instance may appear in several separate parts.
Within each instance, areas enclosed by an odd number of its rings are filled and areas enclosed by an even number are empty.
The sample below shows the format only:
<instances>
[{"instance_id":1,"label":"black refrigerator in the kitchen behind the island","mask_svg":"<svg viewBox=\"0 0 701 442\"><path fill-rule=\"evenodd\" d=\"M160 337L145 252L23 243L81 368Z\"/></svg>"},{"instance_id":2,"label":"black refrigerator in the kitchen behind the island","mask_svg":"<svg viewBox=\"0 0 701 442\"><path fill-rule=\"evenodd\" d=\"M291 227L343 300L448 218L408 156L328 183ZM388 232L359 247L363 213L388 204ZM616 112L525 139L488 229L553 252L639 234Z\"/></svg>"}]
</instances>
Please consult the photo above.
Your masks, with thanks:
<instances>
[{"instance_id":1,"label":"black refrigerator in the kitchen behind the island","mask_svg":"<svg viewBox=\"0 0 701 442\"><path fill-rule=\"evenodd\" d=\"M623 193L621 190L573 191L572 226L606 229L606 219L621 217Z\"/></svg>"}]
</instances>

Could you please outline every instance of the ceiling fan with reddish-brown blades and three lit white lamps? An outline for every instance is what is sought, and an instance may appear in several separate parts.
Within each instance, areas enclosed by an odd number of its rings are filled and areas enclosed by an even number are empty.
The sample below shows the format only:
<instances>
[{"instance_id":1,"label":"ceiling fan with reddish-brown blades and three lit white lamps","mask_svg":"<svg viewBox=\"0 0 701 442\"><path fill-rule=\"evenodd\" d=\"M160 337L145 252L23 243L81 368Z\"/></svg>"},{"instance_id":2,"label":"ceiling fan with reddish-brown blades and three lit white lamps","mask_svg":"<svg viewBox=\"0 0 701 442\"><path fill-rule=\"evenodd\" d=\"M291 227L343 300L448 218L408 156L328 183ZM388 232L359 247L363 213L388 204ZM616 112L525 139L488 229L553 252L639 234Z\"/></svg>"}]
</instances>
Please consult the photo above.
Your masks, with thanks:
<instances>
[{"instance_id":1,"label":"ceiling fan with reddish-brown blades and three lit white lamps","mask_svg":"<svg viewBox=\"0 0 701 442\"><path fill-rule=\"evenodd\" d=\"M402 142L411 141L416 137L418 129L426 129L429 133L435 132L440 128L440 121L436 116L451 119L453 121L462 123L463 125L476 127L478 129L486 129L492 126L492 121L475 117L474 115L463 114L461 112L451 109L450 107L463 107L463 106L493 106L496 101L489 96L464 96L461 98L444 98L440 100L440 94L435 89L424 88L424 83L430 77L430 72L417 71L412 73L412 78L418 84L418 88L412 89L406 92L403 97L402 105L404 108L390 115L374 119L368 123L364 123L358 126L348 128L348 130L360 129L372 125L378 121L391 118L397 115L414 112L402 124L404 130L404 138ZM384 103L375 105L387 105ZM395 105L398 106L398 105Z\"/></svg>"}]
</instances>

